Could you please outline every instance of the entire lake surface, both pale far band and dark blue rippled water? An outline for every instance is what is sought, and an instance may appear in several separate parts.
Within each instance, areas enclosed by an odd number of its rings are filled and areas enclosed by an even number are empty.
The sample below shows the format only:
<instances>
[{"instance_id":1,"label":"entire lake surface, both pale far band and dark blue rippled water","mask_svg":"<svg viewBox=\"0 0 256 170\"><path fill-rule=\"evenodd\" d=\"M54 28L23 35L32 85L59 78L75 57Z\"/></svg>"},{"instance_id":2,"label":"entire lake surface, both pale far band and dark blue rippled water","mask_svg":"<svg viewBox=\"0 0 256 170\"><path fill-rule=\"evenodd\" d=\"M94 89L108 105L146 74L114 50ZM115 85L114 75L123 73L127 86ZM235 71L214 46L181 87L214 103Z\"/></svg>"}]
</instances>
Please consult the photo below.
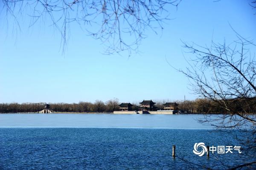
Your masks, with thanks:
<instances>
[{"instance_id":1,"label":"entire lake surface, both pale far band and dark blue rippled water","mask_svg":"<svg viewBox=\"0 0 256 170\"><path fill-rule=\"evenodd\" d=\"M0 114L0 169L227 169L254 159L238 152L195 155L195 143L239 146L234 136L240 135L212 130L198 118Z\"/></svg>"}]
</instances>

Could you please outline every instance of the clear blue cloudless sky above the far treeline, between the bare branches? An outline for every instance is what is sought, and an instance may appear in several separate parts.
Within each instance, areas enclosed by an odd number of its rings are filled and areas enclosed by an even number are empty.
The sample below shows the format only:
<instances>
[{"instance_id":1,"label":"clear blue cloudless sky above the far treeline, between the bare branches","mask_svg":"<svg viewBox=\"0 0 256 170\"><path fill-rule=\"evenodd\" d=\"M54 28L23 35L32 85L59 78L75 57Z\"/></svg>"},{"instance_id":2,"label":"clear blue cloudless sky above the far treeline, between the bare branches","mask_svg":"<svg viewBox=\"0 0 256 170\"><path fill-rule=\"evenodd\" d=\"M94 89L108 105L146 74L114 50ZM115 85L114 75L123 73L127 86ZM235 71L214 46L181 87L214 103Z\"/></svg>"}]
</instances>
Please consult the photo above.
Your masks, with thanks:
<instances>
[{"instance_id":1,"label":"clear blue cloudless sky above the far treeline, between the bare branches","mask_svg":"<svg viewBox=\"0 0 256 170\"><path fill-rule=\"evenodd\" d=\"M50 23L29 28L27 15L21 31L13 31L0 14L0 102L94 102L118 98L195 99L188 79L175 71L185 68L182 41L200 45L236 40L229 26L243 37L256 40L256 10L247 0L183 0L172 8L164 30L145 32L140 54L104 55L102 42L71 27L65 54L60 35ZM0 2L2 3L2 2ZM2 6L3 4L1 4ZM129 38L129 37L127 37ZM255 50L254 50L255 51ZM168 62L166 62L166 59Z\"/></svg>"}]
</instances>

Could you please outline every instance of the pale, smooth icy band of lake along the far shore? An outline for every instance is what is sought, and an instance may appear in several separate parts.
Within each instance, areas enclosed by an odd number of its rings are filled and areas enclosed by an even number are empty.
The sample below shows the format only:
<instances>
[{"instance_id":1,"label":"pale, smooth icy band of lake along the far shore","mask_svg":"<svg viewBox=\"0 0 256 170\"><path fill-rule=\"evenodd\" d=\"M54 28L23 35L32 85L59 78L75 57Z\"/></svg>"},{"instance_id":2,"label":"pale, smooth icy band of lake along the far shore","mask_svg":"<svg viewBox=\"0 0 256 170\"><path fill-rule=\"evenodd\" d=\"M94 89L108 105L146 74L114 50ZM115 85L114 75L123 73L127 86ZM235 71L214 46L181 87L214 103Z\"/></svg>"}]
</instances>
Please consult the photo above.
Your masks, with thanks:
<instances>
[{"instance_id":1,"label":"pale, smooth icy band of lake along the far shore","mask_svg":"<svg viewBox=\"0 0 256 170\"><path fill-rule=\"evenodd\" d=\"M0 127L126 127L210 129L203 115L150 114L0 114Z\"/></svg>"}]
</instances>

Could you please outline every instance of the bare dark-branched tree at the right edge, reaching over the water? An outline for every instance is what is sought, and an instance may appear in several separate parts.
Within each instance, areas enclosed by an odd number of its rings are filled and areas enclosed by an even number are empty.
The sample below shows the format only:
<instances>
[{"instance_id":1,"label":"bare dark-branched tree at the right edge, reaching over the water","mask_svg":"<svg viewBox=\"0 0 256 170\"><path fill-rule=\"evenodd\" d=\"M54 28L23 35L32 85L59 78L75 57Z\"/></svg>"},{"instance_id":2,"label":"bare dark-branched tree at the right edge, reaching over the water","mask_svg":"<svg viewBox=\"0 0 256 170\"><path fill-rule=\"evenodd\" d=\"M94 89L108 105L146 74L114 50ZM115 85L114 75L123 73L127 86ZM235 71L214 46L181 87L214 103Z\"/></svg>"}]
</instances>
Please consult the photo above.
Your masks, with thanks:
<instances>
[{"instance_id":1,"label":"bare dark-branched tree at the right edge, reaching over the water","mask_svg":"<svg viewBox=\"0 0 256 170\"><path fill-rule=\"evenodd\" d=\"M235 138L243 152L256 158L256 45L238 33L236 36L228 45L225 41L212 42L209 47L183 42L186 52L195 58L189 68L179 71L189 78L195 94L224 113L206 114L199 121L221 130L238 130L241 135ZM233 168L252 164L256 159Z\"/></svg>"}]
</instances>

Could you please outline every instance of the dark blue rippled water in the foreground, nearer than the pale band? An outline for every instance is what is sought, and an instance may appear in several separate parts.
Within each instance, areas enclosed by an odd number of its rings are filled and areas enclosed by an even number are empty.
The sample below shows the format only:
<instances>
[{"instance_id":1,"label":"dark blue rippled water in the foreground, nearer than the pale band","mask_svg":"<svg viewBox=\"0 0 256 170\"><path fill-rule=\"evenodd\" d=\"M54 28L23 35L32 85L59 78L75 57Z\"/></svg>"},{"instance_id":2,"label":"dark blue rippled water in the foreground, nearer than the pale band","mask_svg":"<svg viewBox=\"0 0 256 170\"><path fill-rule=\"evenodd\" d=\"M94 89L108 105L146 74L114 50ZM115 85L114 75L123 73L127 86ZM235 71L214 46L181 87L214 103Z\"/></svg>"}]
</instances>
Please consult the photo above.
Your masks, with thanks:
<instances>
[{"instance_id":1,"label":"dark blue rippled water in the foreground, nearer than the pale band","mask_svg":"<svg viewBox=\"0 0 256 170\"><path fill-rule=\"evenodd\" d=\"M0 169L227 169L252 158L234 152L207 159L192 150L195 142L238 145L234 134L154 128L0 128Z\"/></svg>"}]
</instances>

